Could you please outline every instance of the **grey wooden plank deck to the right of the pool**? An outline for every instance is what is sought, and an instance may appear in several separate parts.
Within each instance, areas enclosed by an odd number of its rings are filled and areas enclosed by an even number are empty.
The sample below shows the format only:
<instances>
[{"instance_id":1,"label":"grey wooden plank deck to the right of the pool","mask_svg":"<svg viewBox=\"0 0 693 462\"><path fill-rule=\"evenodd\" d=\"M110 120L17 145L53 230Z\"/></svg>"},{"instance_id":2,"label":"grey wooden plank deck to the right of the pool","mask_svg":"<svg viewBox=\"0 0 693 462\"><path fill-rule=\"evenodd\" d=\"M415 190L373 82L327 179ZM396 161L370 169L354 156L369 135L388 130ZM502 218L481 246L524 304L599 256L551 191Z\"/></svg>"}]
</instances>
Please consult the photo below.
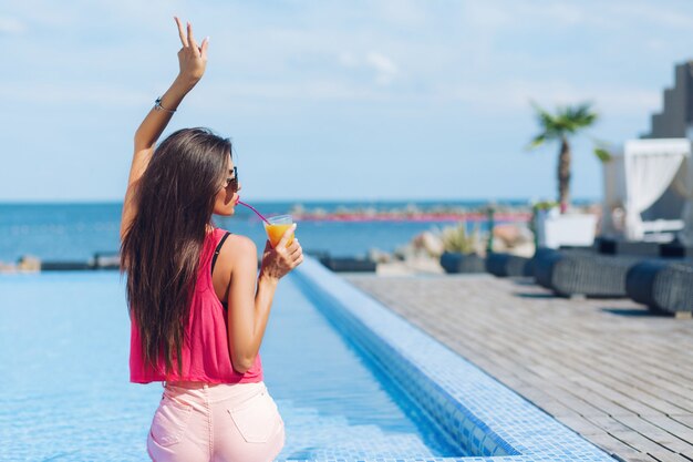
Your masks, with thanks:
<instances>
[{"instance_id":1,"label":"grey wooden plank deck to the right of the pool","mask_svg":"<svg viewBox=\"0 0 693 462\"><path fill-rule=\"evenodd\" d=\"M693 461L693 320L527 279L344 277L616 459Z\"/></svg>"}]
</instances>

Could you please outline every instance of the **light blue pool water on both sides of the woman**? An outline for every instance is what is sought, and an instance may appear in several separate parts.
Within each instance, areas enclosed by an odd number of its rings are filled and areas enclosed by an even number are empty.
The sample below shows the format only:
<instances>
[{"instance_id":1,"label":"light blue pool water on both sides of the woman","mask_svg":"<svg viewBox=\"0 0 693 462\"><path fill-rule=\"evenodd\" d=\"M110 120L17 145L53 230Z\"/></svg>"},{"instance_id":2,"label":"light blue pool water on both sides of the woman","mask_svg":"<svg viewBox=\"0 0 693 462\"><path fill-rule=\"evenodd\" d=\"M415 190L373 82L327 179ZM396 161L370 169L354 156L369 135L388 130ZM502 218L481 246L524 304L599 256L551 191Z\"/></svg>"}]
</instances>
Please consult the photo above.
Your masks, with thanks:
<instances>
[{"instance_id":1,"label":"light blue pool water on both sides of the woman","mask_svg":"<svg viewBox=\"0 0 693 462\"><path fill-rule=\"evenodd\" d=\"M462 456L301 292L279 287L261 356L278 459ZM0 460L147 460L162 386L128 382L117 271L0 277Z\"/></svg>"}]
</instances>

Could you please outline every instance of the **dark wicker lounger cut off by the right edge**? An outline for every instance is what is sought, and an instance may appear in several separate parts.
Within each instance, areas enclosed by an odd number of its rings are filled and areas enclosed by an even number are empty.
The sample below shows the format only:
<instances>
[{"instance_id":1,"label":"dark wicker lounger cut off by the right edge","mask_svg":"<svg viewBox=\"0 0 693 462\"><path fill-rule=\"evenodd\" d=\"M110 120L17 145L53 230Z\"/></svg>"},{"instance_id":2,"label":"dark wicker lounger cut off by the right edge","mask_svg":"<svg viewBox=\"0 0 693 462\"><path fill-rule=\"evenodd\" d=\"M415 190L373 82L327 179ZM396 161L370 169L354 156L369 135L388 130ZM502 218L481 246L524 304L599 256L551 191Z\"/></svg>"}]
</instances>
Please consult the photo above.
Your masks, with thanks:
<instances>
[{"instance_id":1,"label":"dark wicker lounger cut off by the right edge","mask_svg":"<svg viewBox=\"0 0 693 462\"><path fill-rule=\"evenodd\" d=\"M628 296L654 311L691 318L693 312L693 260L642 261L625 279Z\"/></svg>"}]
</instances>

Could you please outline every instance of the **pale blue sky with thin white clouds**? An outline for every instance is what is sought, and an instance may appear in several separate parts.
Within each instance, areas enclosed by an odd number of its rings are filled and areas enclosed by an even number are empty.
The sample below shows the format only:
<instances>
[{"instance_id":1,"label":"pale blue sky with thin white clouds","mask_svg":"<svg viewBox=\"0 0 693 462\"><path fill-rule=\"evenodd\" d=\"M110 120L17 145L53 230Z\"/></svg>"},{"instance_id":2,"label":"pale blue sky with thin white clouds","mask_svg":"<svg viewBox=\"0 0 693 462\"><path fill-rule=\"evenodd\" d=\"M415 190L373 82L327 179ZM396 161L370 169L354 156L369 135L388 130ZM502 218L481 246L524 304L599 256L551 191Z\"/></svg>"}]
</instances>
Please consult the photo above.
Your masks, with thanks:
<instances>
[{"instance_id":1,"label":"pale blue sky with thin white clouds","mask_svg":"<svg viewBox=\"0 0 693 462\"><path fill-rule=\"evenodd\" d=\"M173 16L210 37L166 133L230 136L247 199L554 198L529 101L649 130L693 58L690 1L2 1L0 201L121 201L132 136L177 72ZM577 140L573 197L601 196Z\"/></svg>"}]
</instances>

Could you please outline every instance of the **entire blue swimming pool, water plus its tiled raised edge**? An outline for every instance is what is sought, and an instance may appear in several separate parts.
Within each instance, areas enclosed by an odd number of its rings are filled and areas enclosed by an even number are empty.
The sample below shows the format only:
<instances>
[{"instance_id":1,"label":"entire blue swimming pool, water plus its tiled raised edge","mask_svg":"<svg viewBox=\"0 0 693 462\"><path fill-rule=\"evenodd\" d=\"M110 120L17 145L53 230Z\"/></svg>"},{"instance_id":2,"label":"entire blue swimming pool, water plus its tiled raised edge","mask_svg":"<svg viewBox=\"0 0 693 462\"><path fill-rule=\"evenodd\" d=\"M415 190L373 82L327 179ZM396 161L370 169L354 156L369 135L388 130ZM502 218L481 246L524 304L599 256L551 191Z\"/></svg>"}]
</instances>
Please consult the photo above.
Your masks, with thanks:
<instances>
[{"instance_id":1,"label":"entire blue swimming pool, water plus its tiled raised edge","mask_svg":"<svg viewBox=\"0 0 693 462\"><path fill-rule=\"evenodd\" d=\"M146 460L162 388L127 382L127 348L117 273L0 277L0 459ZM279 460L612 460L314 260L280 285L262 359Z\"/></svg>"}]
</instances>

